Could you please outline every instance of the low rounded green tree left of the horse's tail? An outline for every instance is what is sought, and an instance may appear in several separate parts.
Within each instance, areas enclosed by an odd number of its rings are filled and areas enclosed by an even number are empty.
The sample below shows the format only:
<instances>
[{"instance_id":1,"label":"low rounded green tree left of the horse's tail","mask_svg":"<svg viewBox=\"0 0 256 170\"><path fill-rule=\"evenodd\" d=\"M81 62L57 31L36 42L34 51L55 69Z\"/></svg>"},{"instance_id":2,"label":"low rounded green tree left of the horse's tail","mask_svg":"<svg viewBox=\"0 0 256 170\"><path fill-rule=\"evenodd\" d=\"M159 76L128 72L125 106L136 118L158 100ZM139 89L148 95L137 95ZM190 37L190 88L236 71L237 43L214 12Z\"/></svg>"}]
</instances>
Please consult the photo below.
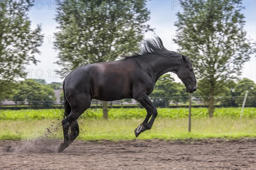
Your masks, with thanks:
<instances>
[{"instance_id":1,"label":"low rounded green tree left of the horse's tail","mask_svg":"<svg viewBox=\"0 0 256 170\"><path fill-rule=\"evenodd\" d=\"M30 104L47 105L50 102L40 101L55 101L55 94L53 90L47 85L42 85L35 82L33 79L25 79L18 83L18 88L13 95L14 101L31 101Z\"/></svg>"}]
</instances>

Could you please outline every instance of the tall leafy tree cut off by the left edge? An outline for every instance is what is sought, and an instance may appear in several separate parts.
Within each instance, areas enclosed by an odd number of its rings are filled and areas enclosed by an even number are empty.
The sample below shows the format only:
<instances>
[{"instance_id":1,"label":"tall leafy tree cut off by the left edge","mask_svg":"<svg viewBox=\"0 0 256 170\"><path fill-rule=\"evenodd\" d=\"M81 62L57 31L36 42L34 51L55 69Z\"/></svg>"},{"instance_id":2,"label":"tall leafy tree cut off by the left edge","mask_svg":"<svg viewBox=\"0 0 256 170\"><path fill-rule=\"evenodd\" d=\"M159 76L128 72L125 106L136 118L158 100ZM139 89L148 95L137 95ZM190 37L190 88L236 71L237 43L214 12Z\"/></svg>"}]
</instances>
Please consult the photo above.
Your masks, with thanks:
<instances>
[{"instance_id":1,"label":"tall leafy tree cut off by the left edge","mask_svg":"<svg viewBox=\"0 0 256 170\"><path fill-rule=\"evenodd\" d=\"M1 100L10 98L14 82L26 77L25 65L36 64L35 54L43 42L41 26L32 30L27 16L34 0L0 1L0 87Z\"/></svg>"}]
</instances>

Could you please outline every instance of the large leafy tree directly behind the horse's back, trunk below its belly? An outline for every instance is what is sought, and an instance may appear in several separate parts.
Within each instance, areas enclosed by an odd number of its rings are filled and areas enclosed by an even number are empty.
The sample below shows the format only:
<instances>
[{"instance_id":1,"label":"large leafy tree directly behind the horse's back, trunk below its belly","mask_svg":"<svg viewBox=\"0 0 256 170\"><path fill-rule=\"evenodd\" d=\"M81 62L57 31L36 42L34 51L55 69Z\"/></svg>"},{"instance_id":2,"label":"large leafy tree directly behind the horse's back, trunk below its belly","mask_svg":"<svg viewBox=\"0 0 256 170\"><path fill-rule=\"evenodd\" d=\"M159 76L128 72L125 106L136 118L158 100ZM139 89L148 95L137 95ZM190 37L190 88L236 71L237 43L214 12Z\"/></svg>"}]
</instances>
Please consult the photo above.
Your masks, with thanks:
<instances>
[{"instance_id":1,"label":"large leafy tree directly behind the horse's back, trunk below its belly","mask_svg":"<svg viewBox=\"0 0 256 170\"><path fill-rule=\"evenodd\" d=\"M146 31L149 11L144 0L59 1L55 33L56 62L61 76L80 65L112 61L120 54L135 51ZM103 102L107 116L107 102Z\"/></svg>"}]
</instances>

